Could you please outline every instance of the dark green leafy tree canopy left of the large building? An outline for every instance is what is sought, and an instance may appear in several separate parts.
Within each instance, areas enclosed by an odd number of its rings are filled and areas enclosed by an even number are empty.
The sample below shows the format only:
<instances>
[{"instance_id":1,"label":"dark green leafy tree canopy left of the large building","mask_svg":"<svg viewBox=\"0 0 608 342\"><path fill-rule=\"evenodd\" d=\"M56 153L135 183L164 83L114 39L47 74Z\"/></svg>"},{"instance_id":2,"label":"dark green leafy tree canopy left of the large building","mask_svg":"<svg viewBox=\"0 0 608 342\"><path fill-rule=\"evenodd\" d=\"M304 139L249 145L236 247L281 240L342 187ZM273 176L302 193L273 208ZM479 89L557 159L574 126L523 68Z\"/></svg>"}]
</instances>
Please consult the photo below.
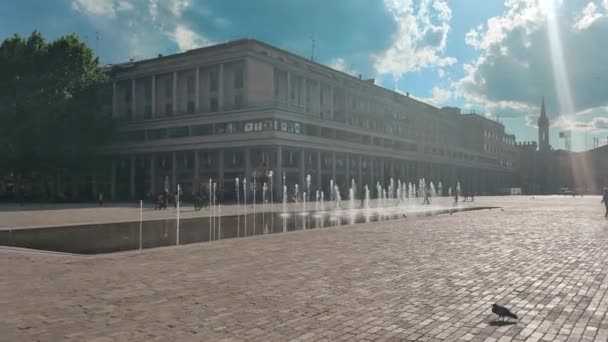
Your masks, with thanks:
<instances>
[{"instance_id":1,"label":"dark green leafy tree canopy left of the large building","mask_svg":"<svg viewBox=\"0 0 608 342\"><path fill-rule=\"evenodd\" d=\"M34 31L0 45L0 171L51 173L91 165L112 131L111 88L74 34Z\"/></svg>"}]
</instances>

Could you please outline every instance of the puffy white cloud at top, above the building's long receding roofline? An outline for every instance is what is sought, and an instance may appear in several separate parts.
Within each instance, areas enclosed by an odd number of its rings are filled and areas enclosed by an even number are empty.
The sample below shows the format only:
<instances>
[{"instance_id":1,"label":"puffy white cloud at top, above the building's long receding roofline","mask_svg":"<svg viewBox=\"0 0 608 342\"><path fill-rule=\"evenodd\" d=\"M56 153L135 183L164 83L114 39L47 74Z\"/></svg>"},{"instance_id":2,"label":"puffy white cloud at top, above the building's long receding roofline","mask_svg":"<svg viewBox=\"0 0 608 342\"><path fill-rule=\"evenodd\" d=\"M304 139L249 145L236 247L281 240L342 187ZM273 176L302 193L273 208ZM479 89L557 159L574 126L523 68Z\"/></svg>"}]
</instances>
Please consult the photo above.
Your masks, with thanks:
<instances>
[{"instance_id":1,"label":"puffy white cloud at top, above the building's long receding roofline","mask_svg":"<svg viewBox=\"0 0 608 342\"><path fill-rule=\"evenodd\" d=\"M398 79L408 72L456 63L456 58L444 56L452 17L447 2L422 0L417 11L412 0L385 0L384 4L397 31L391 46L373 56L377 73Z\"/></svg>"}]
</instances>

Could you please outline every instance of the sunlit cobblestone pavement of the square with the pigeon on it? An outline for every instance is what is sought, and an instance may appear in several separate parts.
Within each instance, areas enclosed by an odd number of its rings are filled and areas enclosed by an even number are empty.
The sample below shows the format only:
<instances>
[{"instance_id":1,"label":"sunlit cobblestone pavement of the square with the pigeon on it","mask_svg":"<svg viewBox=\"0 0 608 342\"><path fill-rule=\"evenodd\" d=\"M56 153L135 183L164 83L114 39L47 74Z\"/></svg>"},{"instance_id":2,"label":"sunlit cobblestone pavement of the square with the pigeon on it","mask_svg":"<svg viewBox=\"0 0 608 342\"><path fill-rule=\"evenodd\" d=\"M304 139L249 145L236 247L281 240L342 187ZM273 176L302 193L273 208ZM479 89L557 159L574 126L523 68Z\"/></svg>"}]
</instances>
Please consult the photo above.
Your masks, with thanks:
<instances>
[{"instance_id":1,"label":"sunlit cobblestone pavement of the square with the pigeon on it","mask_svg":"<svg viewBox=\"0 0 608 342\"><path fill-rule=\"evenodd\" d=\"M599 201L93 257L0 249L0 341L606 341ZM495 302L521 319L494 323Z\"/></svg>"}]
</instances>

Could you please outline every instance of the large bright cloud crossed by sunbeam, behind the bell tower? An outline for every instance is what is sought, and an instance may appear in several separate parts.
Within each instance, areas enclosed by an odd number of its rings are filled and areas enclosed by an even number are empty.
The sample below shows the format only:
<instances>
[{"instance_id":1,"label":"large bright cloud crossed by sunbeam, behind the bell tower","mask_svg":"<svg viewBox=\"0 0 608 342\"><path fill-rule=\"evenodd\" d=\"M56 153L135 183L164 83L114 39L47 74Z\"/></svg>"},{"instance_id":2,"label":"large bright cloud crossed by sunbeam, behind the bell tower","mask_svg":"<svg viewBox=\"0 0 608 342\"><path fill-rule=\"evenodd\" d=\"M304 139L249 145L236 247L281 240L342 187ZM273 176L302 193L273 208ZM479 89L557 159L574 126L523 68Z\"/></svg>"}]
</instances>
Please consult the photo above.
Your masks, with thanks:
<instances>
[{"instance_id":1,"label":"large bright cloud crossed by sunbeam, behind the bell tower","mask_svg":"<svg viewBox=\"0 0 608 342\"><path fill-rule=\"evenodd\" d=\"M608 51L598 43L608 35L608 7L600 8L599 1L582 6L580 3L506 1L503 14L465 35L465 42L478 49L480 55L463 64L465 76L452 84L454 96L462 98L466 105L485 108L493 116L532 118L538 116L544 95L549 116L565 116L559 119L562 126L572 121L568 118L574 113L608 105L608 69L603 67ZM548 25L550 16L555 18L556 29ZM552 50L549 30L558 33L561 51L555 50L555 44ZM553 68L560 54L567 73L565 79L569 80L570 110L556 91L558 80L564 79ZM575 121L590 122L602 115L606 117L607 113Z\"/></svg>"}]
</instances>

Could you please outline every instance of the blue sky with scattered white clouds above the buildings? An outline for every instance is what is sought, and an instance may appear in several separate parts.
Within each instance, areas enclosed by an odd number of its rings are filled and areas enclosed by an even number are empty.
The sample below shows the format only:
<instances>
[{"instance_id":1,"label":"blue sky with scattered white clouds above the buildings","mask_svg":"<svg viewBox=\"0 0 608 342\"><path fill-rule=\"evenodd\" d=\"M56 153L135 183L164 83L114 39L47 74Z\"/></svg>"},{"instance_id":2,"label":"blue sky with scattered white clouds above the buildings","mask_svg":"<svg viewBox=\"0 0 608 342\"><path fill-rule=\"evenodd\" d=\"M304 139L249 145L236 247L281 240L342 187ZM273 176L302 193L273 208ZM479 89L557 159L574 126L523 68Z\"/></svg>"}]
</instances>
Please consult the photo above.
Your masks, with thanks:
<instances>
[{"instance_id":1,"label":"blue sky with scattered white clouds above the buildings","mask_svg":"<svg viewBox=\"0 0 608 342\"><path fill-rule=\"evenodd\" d=\"M102 63L256 38L436 106L499 119L535 140L608 139L608 0L20 0L0 2L0 38L75 32ZM99 40L96 40L96 32ZM557 38L556 38L557 37ZM586 141L586 143L585 143Z\"/></svg>"}]
</instances>

